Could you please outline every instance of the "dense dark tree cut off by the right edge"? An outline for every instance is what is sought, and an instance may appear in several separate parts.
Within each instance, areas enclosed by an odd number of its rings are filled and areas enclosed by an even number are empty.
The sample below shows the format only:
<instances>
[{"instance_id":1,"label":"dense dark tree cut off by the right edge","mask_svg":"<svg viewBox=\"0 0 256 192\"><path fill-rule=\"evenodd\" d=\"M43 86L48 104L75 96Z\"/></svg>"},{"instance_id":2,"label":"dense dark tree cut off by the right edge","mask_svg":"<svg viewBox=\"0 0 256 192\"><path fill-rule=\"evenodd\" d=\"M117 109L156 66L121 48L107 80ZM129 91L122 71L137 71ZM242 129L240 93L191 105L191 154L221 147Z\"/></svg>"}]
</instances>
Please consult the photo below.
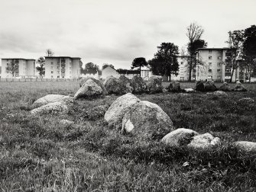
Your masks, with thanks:
<instances>
[{"instance_id":1,"label":"dense dark tree cut off by the right edge","mask_svg":"<svg viewBox=\"0 0 256 192\"><path fill-rule=\"evenodd\" d=\"M249 82L252 72L256 72L256 26L251 25L245 29L243 42L243 59Z\"/></svg>"}]
</instances>

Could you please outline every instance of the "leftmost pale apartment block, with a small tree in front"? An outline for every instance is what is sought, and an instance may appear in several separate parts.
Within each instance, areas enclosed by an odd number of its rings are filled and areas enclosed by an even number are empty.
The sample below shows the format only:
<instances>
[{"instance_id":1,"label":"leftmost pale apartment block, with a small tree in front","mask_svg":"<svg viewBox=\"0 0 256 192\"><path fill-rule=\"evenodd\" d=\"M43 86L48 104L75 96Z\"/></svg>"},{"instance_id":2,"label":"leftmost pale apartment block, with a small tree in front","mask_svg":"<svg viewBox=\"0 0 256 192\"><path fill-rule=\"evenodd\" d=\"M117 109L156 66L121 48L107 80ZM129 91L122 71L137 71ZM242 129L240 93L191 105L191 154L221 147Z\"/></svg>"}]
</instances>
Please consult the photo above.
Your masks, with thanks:
<instances>
[{"instance_id":1,"label":"leftmost pale apartment block, with a small tree in front","mask_svg":"<svg viewBox=\"0 0 256 192\"><path fill-rule=\"evenodd\" d=\"M8 70L8 66L15 62L17 69L14 74ZM35 59L5 58L2 59L1 78L31 78L36 76Z\"/></svg>"}]
</instances>

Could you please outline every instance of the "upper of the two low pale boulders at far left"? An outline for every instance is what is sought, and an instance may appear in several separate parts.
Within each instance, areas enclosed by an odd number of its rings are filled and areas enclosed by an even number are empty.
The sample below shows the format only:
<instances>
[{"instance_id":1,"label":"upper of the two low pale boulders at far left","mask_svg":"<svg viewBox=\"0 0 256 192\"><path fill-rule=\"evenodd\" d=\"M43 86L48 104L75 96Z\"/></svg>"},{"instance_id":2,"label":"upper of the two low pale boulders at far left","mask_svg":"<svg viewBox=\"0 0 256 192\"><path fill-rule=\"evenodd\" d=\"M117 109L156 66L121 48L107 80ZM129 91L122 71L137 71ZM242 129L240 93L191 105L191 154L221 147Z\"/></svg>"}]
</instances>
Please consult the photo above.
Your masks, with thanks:
<instances>
[{"instance_id":1,"label":"upper of the two low pale boulders at far left","mask_svg":"<svg viewBox=\"0 0 256 192\"><path fill-rule=\"evenodd\" d=\"M50 104L54 102L60 102L66 105L72 105L73 98L70 96L61 95L61 94L47 94L43 98L39 98L37 99L37 101L34 101L34 104L32 105L32 107L41 107L45 104Z\"/></svg>"}]
</instances>

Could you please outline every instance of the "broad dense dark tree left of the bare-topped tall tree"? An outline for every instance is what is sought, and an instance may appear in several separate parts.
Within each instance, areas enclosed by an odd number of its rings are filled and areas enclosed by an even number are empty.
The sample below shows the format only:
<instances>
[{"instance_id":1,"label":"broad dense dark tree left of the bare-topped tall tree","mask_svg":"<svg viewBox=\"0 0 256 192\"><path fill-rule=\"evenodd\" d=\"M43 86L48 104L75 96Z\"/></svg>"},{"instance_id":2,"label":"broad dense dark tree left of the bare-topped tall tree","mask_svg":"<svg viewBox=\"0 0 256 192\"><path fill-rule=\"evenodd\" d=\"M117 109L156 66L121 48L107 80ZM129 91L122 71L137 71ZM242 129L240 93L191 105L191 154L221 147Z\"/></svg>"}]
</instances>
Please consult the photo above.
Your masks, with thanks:
<instances>
[{"instance_id":1,"label":"broad dense dark tree left of the bare-topped tall tree","mask_svg":"<svg viewBox=\"0 0 256 192\"><path fill-rule=\"evenodd\" d=\"M153 74L168 76L171 73L177 74L179 70L179 63L177 62L179 47L173 43L161 43L160 46L157 46L157 49L154 59L148 62Z\"/></svg>"}]
</instances>

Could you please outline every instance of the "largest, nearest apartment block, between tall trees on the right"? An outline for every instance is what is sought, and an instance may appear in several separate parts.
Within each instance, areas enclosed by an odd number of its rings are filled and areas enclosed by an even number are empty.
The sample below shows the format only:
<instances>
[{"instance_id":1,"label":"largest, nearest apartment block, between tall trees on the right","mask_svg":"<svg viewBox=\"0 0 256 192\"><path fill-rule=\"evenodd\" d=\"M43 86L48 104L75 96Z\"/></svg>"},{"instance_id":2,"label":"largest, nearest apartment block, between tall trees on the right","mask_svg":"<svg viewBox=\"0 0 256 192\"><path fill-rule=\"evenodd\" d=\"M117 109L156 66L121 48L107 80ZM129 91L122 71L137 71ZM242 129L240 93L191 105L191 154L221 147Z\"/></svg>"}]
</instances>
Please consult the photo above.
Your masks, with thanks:
<instances>
[{"instance_id":1,"label":"largest, nearest apartment block, between tall trees on the right","mask_svg":"<svg viewBox=\"0 0 256 192\"><path fill-rule=\"evenodd\" d=\"M203 65L196 66L196 80L215 82L245 81L245 70L238 66L232 75L232 50L229 48L200 48L196 58Z\"/></svg>"}]
</instances>

